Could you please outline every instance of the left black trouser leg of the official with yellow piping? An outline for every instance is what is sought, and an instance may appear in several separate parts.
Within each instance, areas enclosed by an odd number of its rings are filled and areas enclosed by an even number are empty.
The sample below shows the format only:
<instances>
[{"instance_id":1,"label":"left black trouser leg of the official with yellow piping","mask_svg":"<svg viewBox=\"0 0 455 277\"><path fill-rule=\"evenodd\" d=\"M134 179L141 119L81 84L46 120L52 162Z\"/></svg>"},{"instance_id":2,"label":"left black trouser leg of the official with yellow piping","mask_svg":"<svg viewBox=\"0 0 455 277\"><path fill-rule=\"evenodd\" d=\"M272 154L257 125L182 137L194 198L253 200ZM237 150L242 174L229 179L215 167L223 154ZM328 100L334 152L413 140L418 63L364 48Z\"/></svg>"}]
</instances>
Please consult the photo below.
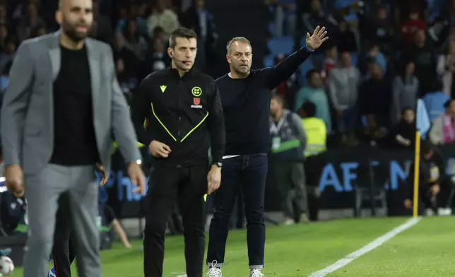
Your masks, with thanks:
<instances>
[{"instance_id":1,"label":"left black trouser leg of the official with yellow piping","mask_svg":"<svg viewBox=\"0 0 455 277\"><path fill-rule=\"evenodd\" d=\"M165 254L166 223L184 180L182 168L152 167L146 196L146 229L143 237L145 277L161 277Z\"/></svg>"}]
</instances>

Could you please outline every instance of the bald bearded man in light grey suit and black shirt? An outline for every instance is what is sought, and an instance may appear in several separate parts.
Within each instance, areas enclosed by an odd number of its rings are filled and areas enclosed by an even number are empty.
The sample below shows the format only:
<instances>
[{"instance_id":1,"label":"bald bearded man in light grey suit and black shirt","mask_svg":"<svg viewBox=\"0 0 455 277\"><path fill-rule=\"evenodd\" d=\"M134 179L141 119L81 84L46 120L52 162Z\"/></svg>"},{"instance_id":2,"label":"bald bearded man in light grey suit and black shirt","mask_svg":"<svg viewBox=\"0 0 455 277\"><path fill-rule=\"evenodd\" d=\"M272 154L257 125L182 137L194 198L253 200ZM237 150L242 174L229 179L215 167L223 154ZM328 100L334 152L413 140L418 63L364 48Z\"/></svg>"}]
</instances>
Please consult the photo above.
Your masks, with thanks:
<instances>
[{"instance_id":1,"label":"bald bearded man in light grey suit and black shirt","mask_svg":"<svg viewBox=\"0 0 455 277\"><path fill-rule=\"evenodd\" d=\"M61 0L59 32L25 40L1 109L6 186L25 189L29 238L24 277L47 274L61 194L69 194L78 276L100 277L96 163L110 172L112 133L131 182L144 192L141 154L116 81L110 47L85 38L92 0ZM26 184L26 187L25 187Z\"/></svg>"}]
</instances>

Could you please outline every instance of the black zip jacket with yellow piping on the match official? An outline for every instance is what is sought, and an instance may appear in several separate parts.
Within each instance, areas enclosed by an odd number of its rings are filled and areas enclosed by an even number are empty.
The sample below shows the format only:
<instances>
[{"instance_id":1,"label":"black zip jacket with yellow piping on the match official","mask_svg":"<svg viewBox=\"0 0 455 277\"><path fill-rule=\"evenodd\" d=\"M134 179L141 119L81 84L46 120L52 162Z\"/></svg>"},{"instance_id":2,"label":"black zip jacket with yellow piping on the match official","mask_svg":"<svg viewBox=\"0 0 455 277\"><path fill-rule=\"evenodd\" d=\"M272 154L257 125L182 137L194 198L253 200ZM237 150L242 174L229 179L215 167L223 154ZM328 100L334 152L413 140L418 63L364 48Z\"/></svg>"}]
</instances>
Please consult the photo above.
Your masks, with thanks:
<instances>
[{"instance_id":1,"label":"black zip jacket with yellow piping on the match official","mask_svg":"<svg viewBox=\"0 0 455 277\"><path fill-rule=\"evenodd\" d=\"M138 141L160 141L171 148L168 158L153 158L155 166L206 165L211 146L213 162L221 162L225 126L215 81L196 69L180 77L176 69L148 75L131 102ZM148 126L144 128L144 120Z\"/></svg>"}]
</instances>

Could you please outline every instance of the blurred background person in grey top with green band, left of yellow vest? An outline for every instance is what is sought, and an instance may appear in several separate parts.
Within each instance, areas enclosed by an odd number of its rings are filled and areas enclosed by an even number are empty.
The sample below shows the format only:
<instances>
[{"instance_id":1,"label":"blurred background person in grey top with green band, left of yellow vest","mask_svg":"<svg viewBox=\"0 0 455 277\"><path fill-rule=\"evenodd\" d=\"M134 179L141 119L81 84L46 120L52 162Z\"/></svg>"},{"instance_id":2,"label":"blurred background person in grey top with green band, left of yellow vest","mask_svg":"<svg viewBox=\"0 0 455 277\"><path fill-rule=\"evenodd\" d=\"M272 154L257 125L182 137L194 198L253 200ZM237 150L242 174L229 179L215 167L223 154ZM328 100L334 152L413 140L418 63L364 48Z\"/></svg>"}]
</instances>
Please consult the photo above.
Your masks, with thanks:
<instances>
[{"instance_id":1,"label":"blurred background person in grey top with green band, left of yellow vest","mask_svg":"<svg viewBox=\"0 0 455 277\"><path fill-rule=\"evenodd\" d=\"M305 223L308 221L303 168L305 130L299 115L283 108L283 98L279 95L273 95L270 113L271 160L282 198L283 224Z\"/></svg>"}]
</instances>

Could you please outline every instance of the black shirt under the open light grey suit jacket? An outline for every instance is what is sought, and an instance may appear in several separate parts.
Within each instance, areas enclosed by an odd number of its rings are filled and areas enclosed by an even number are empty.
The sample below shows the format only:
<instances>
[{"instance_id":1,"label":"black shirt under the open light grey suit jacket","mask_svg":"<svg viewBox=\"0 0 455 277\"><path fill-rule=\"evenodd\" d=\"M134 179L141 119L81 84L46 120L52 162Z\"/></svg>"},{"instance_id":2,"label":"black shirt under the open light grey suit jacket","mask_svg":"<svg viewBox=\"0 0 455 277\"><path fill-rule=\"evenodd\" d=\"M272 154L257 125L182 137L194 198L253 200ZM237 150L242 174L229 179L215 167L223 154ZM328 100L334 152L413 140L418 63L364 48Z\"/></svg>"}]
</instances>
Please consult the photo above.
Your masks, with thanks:
<instances>
[{"instance_id":1,"label":"black shirt under the open light grey suit jacket","mask_svg":"<svg viewBox=\"0 0 455 277\"><path fill-rule=\"evenodd\" d=\"M54 152L50 163L90 165L99 160L93 126L92 88L87 50L61 49L54 81Z\"/></svg>"}]
</instances>

